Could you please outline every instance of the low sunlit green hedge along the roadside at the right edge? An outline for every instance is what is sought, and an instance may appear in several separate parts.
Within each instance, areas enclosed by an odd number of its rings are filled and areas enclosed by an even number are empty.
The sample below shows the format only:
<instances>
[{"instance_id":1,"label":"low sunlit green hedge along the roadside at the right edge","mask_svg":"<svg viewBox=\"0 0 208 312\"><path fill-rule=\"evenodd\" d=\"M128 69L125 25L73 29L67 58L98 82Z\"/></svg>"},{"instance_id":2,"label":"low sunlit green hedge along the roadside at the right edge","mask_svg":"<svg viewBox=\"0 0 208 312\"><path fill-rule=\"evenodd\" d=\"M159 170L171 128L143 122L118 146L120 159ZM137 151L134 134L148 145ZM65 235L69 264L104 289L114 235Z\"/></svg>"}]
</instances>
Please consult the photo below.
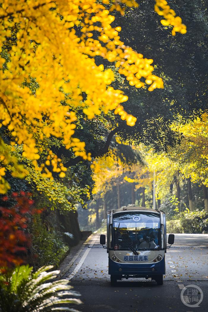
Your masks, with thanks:
<instances>
[{"instance_id":1,"label":"low sunlit green hedge along the roadside at the right edge","mask_svg":"<svg viewBox=\"0 0 208 312\"><path fill-rule=\"evenodd\" d=\"M167 233L208 233L208 213L205 210L181 212L177 217L167 221Z\"/></svg>"}]
</instances>

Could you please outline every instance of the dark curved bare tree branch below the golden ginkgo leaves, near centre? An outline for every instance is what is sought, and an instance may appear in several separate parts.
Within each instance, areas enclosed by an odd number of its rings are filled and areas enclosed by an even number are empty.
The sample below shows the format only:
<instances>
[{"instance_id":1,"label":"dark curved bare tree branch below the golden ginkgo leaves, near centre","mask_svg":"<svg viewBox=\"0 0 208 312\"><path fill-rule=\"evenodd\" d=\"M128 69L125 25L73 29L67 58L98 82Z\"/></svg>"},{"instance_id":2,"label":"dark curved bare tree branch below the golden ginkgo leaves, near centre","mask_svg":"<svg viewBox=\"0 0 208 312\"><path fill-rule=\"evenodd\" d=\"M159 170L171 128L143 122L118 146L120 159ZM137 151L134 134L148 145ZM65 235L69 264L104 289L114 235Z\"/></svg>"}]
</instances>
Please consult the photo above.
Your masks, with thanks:
<instances>
[{"instance_id":1,"label":"dark curved bare tree branch below the golden ginkgo leaves, near centre","mask_svg":"<svg viewBox=\"0 0 208 312\"><path fill-rule=\"evenodd\" d=\"M116 134L118 132L118 130L121 128L121 126L115 128L114 130L110 131L108 138L105 142L104 148L101 149L100 151L97 152L91 152L91 156L93 158L98 157L98 156L102 156L106 153L108 153L109 151L109 146L110 146L110 142L114 136L114 134ZM70 166L76 165L77 163L79 163L80 161L83 161L83 158L81 156L77 156L75 158L70 159L69 161L67 161L64 166L66 168L69 168Z\"/></svg>"}]
</instances>

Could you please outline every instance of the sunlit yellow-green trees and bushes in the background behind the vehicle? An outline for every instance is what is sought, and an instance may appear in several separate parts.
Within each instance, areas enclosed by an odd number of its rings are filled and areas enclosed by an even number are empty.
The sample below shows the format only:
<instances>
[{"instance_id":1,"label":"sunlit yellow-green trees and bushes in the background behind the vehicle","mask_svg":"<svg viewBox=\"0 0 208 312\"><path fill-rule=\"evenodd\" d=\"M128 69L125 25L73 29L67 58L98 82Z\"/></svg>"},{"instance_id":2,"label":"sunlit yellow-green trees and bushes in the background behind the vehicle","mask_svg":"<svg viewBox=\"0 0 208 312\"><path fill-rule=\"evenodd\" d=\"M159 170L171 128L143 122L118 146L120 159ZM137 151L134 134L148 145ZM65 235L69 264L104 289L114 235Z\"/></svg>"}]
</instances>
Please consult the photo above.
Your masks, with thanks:
<instances>
[{"instance_id":1,"label":"sunlit yellow-green trees and bushes in the background behind the vehicle","mask_svg":"<svg viewBox=\"0 0 208 312\"><path fill-rule=\"evenodd\" d=\"M81 228L98 228L110 209L151 208L154 180L156 207L166 212L169 233L208 233L207 115L179 128L181 144L167 152L144 144L130 148L116 137L117 146L94 164L94 199L87 211L78 210Z\"/></svg>"}]
</instances>

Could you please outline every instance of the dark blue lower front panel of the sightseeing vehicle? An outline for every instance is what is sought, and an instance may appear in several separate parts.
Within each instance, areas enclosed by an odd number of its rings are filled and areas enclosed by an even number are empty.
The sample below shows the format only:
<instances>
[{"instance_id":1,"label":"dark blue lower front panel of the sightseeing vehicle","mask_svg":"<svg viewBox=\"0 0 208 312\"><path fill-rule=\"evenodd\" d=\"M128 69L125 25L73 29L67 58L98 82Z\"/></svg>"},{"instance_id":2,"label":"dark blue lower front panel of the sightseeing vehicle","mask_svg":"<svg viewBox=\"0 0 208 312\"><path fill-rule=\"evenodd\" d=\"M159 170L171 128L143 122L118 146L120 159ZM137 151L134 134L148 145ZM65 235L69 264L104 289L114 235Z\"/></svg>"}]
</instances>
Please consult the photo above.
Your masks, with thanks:
<instances>
[{"instance_id":1,"label":"dark blue lower front panel of the sightseeing vehicle","mask_svg":"<svg viewBox=\"0 0 208 312\"><path fill-rule=\"evenodd\" d=\"M119 271L119 269L121 269ZM152 269L154 269L152 271ZM109 258L108 274L110 275L134 275L136 277L154 277L155 275L165 274L165 257L156 263L131 264L118 263Z\"/></svg>"}]
</instances>

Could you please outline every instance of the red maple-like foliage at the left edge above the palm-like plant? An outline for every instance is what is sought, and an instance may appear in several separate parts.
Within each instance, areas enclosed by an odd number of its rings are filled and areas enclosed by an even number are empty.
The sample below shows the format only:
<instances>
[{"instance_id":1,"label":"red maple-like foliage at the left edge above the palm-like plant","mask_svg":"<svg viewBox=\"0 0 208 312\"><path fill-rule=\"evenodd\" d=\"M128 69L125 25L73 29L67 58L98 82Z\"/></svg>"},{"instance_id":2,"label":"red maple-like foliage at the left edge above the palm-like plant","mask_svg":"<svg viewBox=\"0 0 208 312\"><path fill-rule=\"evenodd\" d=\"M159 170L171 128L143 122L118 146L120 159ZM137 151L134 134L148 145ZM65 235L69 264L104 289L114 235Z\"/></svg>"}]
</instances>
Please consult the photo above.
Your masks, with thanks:
<instances>
[{"instance_id":1,"label":"red maple-like foliage at the left edge above the palm-like plant","mask_svg":"<svg viewBox=\"0 0 208 312\"><path fill-rule=\"evenodd\" d=\"M8 197L0 206L0 268L9 268L23 263L24 255L30 246L30 236L26 232L29 219L41 210L32 207L31 193L12 193L16 204L7 207Z\"/></svg>"}]
</instances>

